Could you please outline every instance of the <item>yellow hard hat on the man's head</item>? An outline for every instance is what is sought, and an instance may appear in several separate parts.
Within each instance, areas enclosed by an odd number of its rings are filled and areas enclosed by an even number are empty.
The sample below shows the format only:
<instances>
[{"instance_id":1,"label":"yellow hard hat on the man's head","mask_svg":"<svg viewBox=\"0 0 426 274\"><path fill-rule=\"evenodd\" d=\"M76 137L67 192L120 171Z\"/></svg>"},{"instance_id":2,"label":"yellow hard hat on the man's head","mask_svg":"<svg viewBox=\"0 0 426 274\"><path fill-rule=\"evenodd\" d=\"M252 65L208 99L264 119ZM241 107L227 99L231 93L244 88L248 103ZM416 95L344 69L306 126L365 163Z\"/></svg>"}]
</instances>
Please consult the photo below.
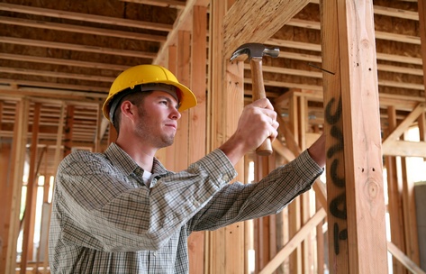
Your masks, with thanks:
<instances>
[{"instance_id":1,"label":"yellow hard hat on the man's head","mask_svg":"<svg viewBox=\"0 0 426 274\"><path fill-rule=\"evenodd\" d=\"M179 97L179 111L182 112L190 107L196 105L196 98L194 93L184 85L177 81L177 78L167 68L163 68L158 65L139 65L124 70L115 80L110 88L110 92L106 97L102 111L106 119L111 121L110 108L111 103L115 96L120 94L127 88L133 89L135 86L143 84L166 84L177 87L180 93L177 93ZM155 90L155 88L152 88ZM121 97L121 96L120 96Z\"/></svg>"}]
</instances>

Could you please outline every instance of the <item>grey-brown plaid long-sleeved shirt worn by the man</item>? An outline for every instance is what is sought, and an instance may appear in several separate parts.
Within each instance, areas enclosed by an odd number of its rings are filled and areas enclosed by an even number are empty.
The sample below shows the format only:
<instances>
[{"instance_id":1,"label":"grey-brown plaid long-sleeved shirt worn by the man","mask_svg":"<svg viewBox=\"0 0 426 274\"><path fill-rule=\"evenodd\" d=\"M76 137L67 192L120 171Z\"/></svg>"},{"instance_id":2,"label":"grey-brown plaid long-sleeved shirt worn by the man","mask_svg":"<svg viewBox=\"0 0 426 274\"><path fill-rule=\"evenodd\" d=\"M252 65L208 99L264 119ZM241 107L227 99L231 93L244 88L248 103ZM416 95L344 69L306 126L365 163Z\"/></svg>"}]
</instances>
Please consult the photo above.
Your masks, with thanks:
<instances>
[{"instance_id":1,"label":"grey-brown plaid long-sleeved shirt worn by the man","mask_svg":"<svg viewBox=\"0 0 426 274\"><path fill-rule=\"evenodd\" d=\"M281 211L322 169L304 151L256 184L220 150L178 173L143 169L116 144L59 165L50 224L52 273L188 273L187 237Z\"/></svg>"}]
</instances>

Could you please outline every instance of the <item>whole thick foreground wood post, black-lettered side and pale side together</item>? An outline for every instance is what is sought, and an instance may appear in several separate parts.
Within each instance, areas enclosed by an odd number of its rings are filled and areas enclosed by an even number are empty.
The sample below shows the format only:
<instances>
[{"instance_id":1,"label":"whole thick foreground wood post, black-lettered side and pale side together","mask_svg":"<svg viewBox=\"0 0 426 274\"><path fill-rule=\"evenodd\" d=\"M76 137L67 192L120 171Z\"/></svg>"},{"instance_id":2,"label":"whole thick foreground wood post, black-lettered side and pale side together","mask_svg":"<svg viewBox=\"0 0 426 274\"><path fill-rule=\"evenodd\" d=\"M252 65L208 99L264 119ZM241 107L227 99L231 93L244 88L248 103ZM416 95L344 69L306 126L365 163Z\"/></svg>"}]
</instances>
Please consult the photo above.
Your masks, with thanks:
<instances>
[{"instance_id":1,"label":"whole thick foreground wood post, black-lettered side and pale side together","mask_svg":"<svg viewBox=\"0 0 426 274\"><path fill-rule=\"evenodd\" d=\"M322 66L334 73L323 73L331 273L380 273L387 248L373 5L321 6Z\"/></svg>"}]
</instances>

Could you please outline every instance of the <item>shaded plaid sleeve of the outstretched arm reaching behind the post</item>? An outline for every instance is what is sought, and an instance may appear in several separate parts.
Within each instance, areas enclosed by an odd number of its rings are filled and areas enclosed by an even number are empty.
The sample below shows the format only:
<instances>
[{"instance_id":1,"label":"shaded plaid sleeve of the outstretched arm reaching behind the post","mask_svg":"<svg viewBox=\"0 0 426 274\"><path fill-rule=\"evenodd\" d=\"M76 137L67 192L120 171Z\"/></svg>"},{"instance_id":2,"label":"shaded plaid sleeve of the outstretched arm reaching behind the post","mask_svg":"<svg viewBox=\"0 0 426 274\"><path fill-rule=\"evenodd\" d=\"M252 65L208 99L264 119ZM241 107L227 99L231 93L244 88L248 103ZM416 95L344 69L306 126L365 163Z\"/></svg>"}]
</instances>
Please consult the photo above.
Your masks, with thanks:
<instances>
[{"instance_id":1,"label":"shaded plaid sleeve of the outstretched arm reaching behind the post","mask_svg":"<svg viewBox=\"0 0 426 274\"><path fill-rule=\"evenodd\" d=\"M270 172L258 183L235 182L222 187L191 220L191 231L220 227L279 213L296 196L311 189L323 169L302 152L292 162Z\"/></svg>"}]
</instances>

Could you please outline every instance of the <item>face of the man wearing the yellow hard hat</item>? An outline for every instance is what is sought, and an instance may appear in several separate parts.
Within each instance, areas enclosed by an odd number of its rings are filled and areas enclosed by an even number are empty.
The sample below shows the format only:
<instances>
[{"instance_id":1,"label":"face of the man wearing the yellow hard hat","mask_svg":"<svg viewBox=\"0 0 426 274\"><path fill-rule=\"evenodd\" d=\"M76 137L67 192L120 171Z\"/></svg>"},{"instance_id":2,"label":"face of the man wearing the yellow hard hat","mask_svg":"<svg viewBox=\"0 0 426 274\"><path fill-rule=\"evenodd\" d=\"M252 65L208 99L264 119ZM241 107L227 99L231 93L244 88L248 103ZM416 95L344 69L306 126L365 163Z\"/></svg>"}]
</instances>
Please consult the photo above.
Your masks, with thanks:
<instances>
[{"instance_id":1,"label":"face of the man wearing the yellow hard hat","mask_svg":"<svg viewBox=\"0 0 426 274\"><path fill-rule=\"evenodd\" d=\"M167 92L154 91L137 106L139 120L135 133L142 142L158 149L173 144L177 120L181 116L177 111L177 100Z\"/></svg>"}]
</instances>

